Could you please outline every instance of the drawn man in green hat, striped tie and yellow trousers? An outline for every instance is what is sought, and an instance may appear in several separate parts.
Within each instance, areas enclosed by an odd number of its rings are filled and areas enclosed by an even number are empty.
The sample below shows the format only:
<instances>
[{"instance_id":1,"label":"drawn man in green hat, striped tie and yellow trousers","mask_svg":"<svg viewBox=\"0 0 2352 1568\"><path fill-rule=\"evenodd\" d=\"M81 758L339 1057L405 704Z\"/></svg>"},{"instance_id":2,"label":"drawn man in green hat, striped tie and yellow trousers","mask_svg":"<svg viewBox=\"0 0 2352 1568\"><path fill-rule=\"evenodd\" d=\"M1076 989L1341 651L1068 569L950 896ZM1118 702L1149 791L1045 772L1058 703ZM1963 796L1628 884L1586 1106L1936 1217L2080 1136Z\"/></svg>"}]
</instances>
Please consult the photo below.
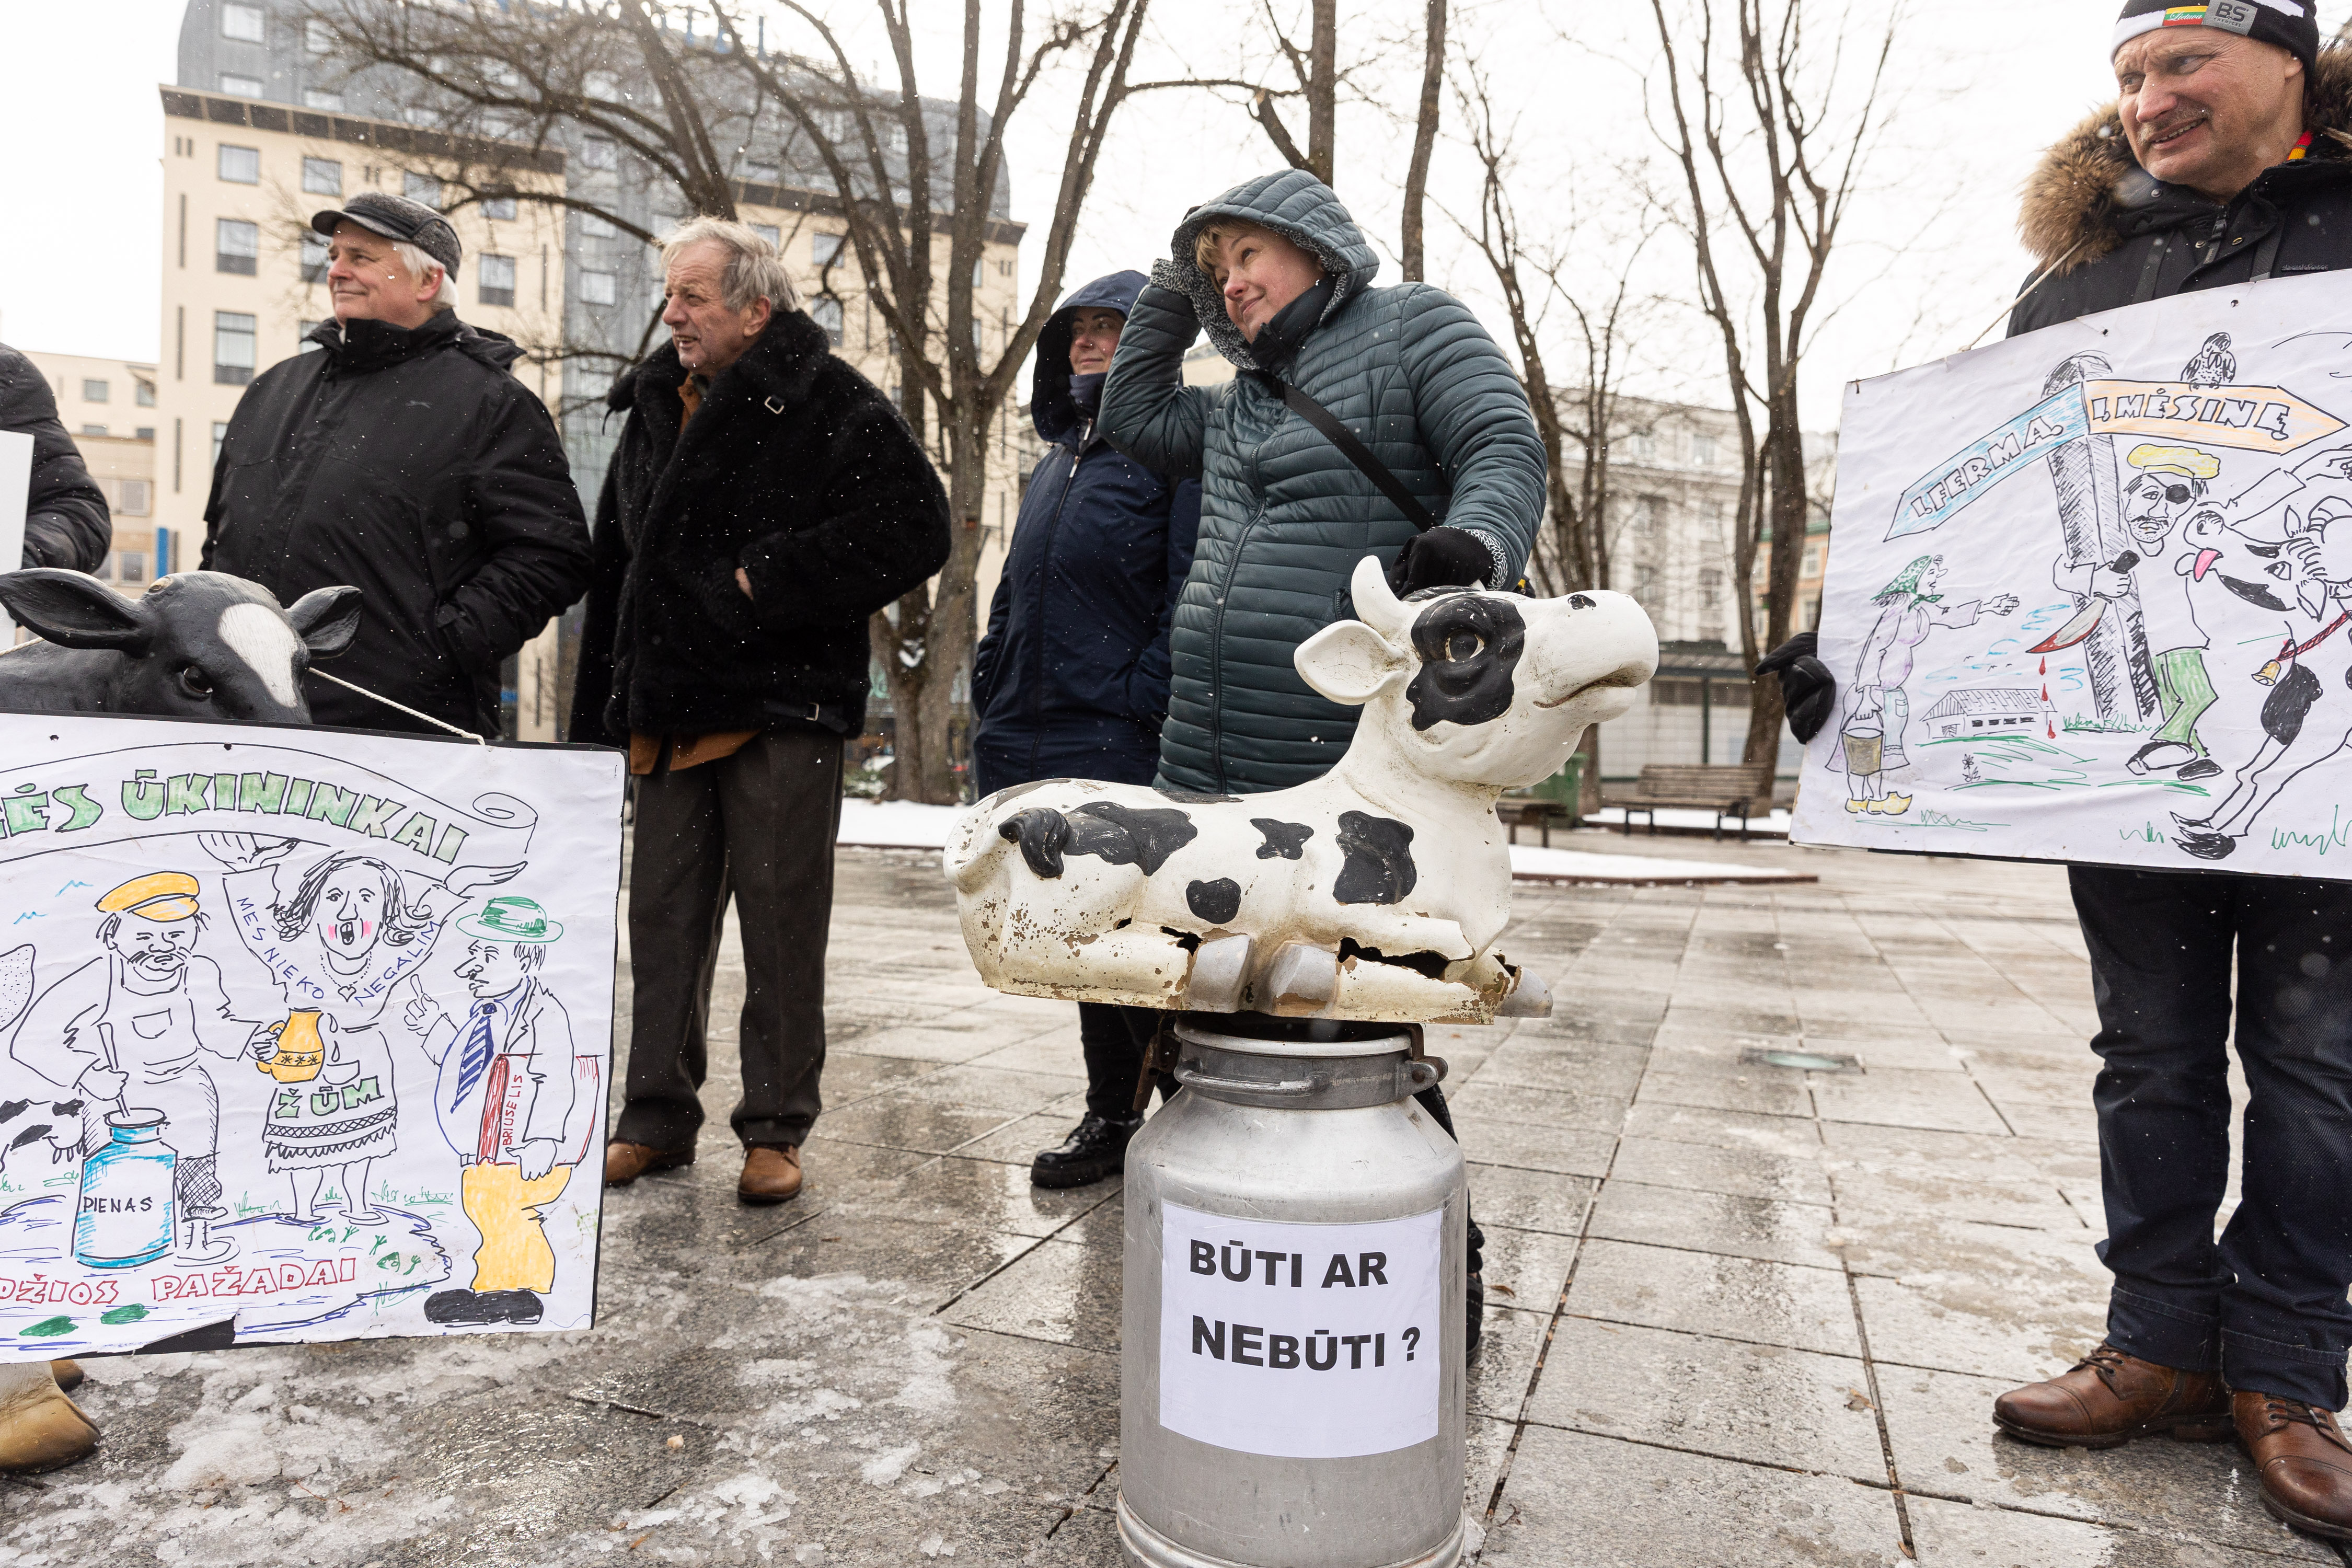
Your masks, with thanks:
<instances>
[{"instance_id":1,"label":"drawn man in green hat, striped tie and yellow trousers","mask_svg":"<svg viewBox=\"0 0 2352 1568\"><path fill-rule=\"evenodd\" d=\"M482 1246L473 1286L435 1291L426 1319L536 1324L539 1298L555 1286L541 1211L572 1180L572 1166L555 1161L579 1143L564 1133L574 1110L572 1016L541 978L548 945L564 929L529 898L492 898L456 929L470 938L456 966L473 992L466 1018L435 1018L423 992L405 1018L440 1067L433 1117L463 1166L459 1201Z\"/></svg>"}]
</instances>

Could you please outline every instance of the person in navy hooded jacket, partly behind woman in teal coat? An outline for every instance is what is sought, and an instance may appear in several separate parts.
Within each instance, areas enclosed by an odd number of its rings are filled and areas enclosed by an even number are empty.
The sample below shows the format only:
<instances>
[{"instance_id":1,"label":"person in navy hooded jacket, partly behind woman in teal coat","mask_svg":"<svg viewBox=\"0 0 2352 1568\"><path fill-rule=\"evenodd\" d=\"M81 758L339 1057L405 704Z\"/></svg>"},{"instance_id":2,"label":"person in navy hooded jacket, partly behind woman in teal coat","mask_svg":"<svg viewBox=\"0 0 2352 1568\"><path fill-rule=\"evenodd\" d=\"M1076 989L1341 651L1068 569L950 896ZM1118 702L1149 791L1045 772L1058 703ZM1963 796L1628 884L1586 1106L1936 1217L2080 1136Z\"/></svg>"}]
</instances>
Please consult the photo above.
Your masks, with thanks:
<instances>
[{"instance_id":1,"label":"person in navy hooded jacket, partly behind woman in teal coat","mask_svg":"<svg viewBox=\"0 0 2352 1568\"><path fill-rule=\"evenodd\" d=\"M1094 411L1143 273L1077 289L1037 336L1030 418L1049 444L1014 520L988 635L971 658L981 795L1037 778L1148 785L1169 705L1169 616L1192 567L1200 484L1115 451ZM1160 1013L1077 1004L1087 1114L1030 1166L1040 1187L1122 1168L1136 1079Z\"/></svg>"}]
</instances>

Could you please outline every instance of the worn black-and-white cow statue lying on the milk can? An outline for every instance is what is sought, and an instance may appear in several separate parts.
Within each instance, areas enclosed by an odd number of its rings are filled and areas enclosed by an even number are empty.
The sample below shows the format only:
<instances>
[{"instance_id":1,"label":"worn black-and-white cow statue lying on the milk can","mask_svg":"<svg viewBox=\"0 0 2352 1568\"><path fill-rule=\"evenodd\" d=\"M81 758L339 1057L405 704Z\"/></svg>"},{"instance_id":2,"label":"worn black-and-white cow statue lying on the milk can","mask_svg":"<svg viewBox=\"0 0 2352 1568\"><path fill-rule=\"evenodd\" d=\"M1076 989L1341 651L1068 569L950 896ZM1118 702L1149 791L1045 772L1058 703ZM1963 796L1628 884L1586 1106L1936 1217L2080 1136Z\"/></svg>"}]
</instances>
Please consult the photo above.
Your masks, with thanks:
<instances>
[{"instance_id":1,"label":"worn black-and-white cow statue lying on the milk can","mask_svg":"<svg viewBox=\"0 0 2352 1568\"><path fill-rule=\"evenodd\" d=\"M1658 668L1618 592L1397 599L1367 557L1355 621L1296 654L1362 705L1348 755L1268 795L1077 778L1000 790L948 837L981 978L1028 997L1209 1013L1486 1023L1519 985L1494 804L1550 778ZM1543 1011L1529 985L1510 1011Z\"/></svg>"}]
</instances>

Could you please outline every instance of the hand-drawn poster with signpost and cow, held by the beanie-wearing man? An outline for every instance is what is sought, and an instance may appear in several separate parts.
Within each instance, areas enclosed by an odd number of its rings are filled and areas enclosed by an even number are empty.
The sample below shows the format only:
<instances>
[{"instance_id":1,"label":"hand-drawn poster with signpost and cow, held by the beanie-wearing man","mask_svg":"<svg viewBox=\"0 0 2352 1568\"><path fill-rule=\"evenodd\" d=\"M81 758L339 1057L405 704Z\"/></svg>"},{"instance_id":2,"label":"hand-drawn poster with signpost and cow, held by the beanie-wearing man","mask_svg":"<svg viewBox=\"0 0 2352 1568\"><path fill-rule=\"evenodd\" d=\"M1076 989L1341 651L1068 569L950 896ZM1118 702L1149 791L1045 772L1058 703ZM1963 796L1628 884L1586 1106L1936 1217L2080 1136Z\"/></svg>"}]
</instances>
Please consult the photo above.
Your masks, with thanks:
<instances>
[{"instance_id":1,"label":"hand-drawn poster with signpost and cow, held by the beanie-wearing man","mask_svg":"<svg viewBox=\"0 0 2352 1568\"><path fill-rule=\"evenodd\" d=\"M2347 421L2326 277L1853 383L1795 839L2352 877Z\"/></svg>"}]
</instances>

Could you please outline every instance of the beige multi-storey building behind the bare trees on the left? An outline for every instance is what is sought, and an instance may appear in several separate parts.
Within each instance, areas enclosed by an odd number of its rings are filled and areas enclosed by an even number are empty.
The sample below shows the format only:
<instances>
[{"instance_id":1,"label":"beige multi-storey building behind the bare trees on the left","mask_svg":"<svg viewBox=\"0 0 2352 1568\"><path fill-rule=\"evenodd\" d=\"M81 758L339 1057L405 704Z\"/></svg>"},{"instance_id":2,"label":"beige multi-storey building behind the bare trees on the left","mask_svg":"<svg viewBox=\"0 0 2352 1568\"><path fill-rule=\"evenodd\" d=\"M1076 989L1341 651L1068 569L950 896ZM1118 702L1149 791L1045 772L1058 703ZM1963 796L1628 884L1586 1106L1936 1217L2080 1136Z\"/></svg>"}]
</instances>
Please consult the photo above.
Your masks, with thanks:
<instances>
[{"instance_id":1,"label":"beige multi-storey building behind the bare trees on the left","mask_svg":"<svg viewBox=\"0 0 2352 1568\"><path fill-rule=\"evenodd\" d=\"M708 47L708 38L677 35L673 42ZM656 99L635 80L633 61L588 71L581 89L612 101ZM781 150L790 139L771 101L755 103L746 92L741 106L706 108L713 129L724 132L720 141L731 146L736 216L779 247L835 353L896 397L898 360L821 169L807 150L800 162ZM953 143L953 108L924 103L938 146ZM193 515L195 538L202 536L214 433L242 390L238 376L299 353L303 324L329 315L325 284L308 280L301 219L334 205L336 193L306 188L313 160L343 165L339 195L393 190L447 212L466 247L459 313L524 343L529 357L515 369L555 414L572 477L593 515L619 437L604 393L616 371L663 341L659 252L621 223L656 235L682 223L691 214L675 183L628 146L569 120L524 127L435 99L402 73L353 66L336 56L332 31L308 14L306 0L188 0L179 82L165 89L165 110L162 381L174 407L158 421L158 468L167 475L160 484L167 484L174 520ZM576 200L595 212L543 197ZM931 235L936 313L946 308L950 197L948 169L941 169ZM974 277L974 336L983 357L1002 353L1023 310L1021 235L1000 179ZM496 261L477 266L477 259ZM252 270L235 270L230 261L249 261ZM1018 423L1007 402L988 442L976 520L983 529L981 604L995 588L1018 510ZM927 421L927 433L934 458L943 461L936 421ZM567 646L548 658L536 701L529 675L517 672L517 726L527 712L564 708Z\"/></svg>"}]
</instances>

